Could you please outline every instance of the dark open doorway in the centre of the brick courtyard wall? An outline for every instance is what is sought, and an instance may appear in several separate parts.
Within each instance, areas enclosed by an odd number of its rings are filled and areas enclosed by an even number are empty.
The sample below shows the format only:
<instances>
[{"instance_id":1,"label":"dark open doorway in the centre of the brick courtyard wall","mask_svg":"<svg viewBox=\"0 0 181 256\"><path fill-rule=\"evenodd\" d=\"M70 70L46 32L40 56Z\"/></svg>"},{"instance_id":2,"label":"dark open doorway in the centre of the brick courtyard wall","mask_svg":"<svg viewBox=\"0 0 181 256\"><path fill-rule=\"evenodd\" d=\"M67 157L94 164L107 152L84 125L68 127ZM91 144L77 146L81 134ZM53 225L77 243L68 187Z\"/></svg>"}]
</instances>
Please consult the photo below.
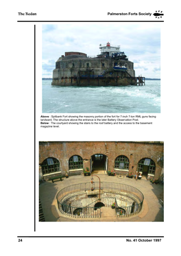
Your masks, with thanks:
<instances>
[{"instance_id":1,"label":"dark open doorway in the centre of the brick courtyard wall","mask_svg":"<svg viewBox=\"0 0 181 256\"><path fill-rule=\"evenodd\" d=\"M108 156L106 154L93 154L90 156L90 172L93 174L106 174L108 170Z\"/></svg>"}]
</instances>

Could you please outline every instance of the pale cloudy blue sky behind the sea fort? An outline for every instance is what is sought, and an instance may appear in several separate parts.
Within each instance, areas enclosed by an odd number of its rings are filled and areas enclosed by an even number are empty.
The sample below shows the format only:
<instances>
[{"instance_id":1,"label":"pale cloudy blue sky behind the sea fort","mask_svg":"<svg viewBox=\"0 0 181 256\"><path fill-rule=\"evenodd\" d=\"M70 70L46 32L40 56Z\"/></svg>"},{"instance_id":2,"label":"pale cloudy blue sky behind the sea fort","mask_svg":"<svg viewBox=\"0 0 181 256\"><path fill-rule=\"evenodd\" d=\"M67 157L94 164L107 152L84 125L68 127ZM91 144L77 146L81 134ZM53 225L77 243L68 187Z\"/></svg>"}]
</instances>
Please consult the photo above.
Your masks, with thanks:
<instances>
[{"instance_id":1,"label":"pale cloudy blue sky behind the sea fort","mask_svg":"<svg viewBox=\"0 0 181 256\"><path fill-rule=\"evenodd\" d=\"M70 22L42 25L43 78L52 78L65 51L100 54L99 45L120 45L136 76L160 78L160 23Z\"/></svg>"}]
</instances>

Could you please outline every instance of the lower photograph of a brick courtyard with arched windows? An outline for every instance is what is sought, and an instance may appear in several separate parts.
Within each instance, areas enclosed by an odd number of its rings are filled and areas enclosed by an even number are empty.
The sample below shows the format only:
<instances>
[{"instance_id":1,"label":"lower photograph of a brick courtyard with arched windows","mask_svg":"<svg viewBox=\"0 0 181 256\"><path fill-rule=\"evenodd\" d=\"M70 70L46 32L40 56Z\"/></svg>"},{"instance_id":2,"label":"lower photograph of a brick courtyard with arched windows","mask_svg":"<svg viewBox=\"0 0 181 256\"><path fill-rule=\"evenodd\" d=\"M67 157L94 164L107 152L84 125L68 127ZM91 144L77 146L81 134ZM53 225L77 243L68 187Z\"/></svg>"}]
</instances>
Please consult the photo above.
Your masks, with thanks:
<instances>
[{"instance_id":1,"label":"lower photograph of a brick courtyard with arched windows","mask_svg":"<svg viewBox=\"0 0 181 256\"><path fill-rule=\"evenodd\" d=\"M39 141L39 222L163 222L163 141Z\"/></svg>"}]
</instances>

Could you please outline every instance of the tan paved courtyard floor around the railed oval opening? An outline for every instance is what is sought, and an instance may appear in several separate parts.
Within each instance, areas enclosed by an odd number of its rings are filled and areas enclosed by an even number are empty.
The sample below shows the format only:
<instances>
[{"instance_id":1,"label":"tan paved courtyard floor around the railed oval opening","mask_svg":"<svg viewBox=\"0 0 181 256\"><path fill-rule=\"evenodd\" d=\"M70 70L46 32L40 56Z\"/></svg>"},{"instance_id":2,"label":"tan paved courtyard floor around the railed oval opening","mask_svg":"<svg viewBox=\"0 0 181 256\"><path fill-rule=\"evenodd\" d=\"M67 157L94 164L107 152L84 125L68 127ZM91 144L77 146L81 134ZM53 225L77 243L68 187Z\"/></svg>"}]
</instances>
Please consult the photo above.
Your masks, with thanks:
<instances>
[{"instance_id":1,"label":"tan paved courtyard floor around the railed oval opening","mask_svg":"<svg viewBox=\"0 0 181 256\"><path fill-rule=\"evenodd\" d=\"M56 194L60 189L69 185L77 183L86 183L90 181L90 176L70 176L69 178L62 178L62 181L51 181L40 183L39 196L43 207L43 213L46 222L75 222L75 221L90 221L90 222L163 222L163 207L160 203L160 199L163 198L163 185L152 184L147 180L135 180L134 178L119 178L119 176L108 176L107 174L99 175L101 181L122 183L131 185L141 190L144 195L143 210L137 216L131 218L117 218L111 216L110 211L106 211L104 207L101 208L102 218L99 219L77 219L64 218L60 216L56 207ZM98 178L97 178L98 181ZM112 209L110 209L112 210Z\"/></svg>"}]
</instances>

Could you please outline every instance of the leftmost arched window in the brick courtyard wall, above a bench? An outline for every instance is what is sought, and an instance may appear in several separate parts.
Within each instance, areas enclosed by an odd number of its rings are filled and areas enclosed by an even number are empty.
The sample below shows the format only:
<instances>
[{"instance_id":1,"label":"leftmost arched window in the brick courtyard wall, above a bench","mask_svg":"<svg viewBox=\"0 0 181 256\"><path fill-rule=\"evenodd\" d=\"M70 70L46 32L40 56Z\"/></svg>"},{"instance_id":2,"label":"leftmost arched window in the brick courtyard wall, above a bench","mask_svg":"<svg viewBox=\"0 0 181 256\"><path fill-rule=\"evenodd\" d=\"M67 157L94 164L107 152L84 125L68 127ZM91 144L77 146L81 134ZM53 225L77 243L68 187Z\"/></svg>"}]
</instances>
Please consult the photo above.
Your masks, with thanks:
<instances>
[{"instance_id":1,"label":"leftmost arched window in the brick courtyard wall, above a bench","mask_svg":"<svg viewBox=\"0 0 181 256\"><path fill-rule=\"evenodd\" d=\"M53 157L49 157L48 159L45 159L41 164L41 167L42 167L43 175L60 171L60 163L58 159L55 159Z\"/></svg>"}]
</instances>

